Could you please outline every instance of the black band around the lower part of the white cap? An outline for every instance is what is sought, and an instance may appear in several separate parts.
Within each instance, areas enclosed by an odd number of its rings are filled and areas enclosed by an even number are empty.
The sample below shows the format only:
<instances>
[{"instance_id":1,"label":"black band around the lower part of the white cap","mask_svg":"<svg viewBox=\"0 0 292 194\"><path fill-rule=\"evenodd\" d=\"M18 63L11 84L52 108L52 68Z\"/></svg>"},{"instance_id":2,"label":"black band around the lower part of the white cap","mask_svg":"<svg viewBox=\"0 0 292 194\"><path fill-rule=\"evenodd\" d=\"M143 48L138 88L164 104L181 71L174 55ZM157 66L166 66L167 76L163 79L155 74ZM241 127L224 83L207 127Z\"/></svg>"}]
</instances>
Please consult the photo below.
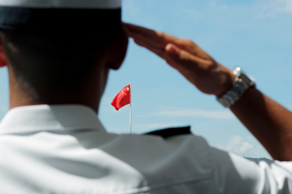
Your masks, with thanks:
<instances>
[{"instance_id":1,"label":"black band around the lower part of the white cap","mask_svg":"<svg viewBox=\"0 0 292 194\"><path fill-rule=\"evenodd\" d=\"M0 6L0 29L28 32L87 30L115 31L121 27L121 8L67 9Z\"/></svg>"}]
</instances>

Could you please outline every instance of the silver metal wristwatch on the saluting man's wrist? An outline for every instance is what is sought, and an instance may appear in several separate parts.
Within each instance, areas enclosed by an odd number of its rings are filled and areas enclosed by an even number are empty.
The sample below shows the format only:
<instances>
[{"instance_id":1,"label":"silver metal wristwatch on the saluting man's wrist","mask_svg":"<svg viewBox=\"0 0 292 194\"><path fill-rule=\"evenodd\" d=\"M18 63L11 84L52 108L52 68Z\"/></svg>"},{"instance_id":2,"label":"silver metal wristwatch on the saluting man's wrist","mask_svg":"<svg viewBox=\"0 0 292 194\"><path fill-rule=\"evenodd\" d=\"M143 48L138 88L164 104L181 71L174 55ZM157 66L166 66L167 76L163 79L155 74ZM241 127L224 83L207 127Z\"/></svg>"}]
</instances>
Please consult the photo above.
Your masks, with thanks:
<instances>
[{"instance_id":1,"label":"silver metal wristwatch on the saluting man's wrist","mask_svg":"<svg viewBox=\"0 0 292 194\"><path fill-rule=\"evenodd\" d=\"M242 73L240 67L237 67L233 71L236 78L230 88L217 100L225 107L231 107L247 89L255 86L255 80L251 76L247 76Z\"/></svg>"}]
</instances>

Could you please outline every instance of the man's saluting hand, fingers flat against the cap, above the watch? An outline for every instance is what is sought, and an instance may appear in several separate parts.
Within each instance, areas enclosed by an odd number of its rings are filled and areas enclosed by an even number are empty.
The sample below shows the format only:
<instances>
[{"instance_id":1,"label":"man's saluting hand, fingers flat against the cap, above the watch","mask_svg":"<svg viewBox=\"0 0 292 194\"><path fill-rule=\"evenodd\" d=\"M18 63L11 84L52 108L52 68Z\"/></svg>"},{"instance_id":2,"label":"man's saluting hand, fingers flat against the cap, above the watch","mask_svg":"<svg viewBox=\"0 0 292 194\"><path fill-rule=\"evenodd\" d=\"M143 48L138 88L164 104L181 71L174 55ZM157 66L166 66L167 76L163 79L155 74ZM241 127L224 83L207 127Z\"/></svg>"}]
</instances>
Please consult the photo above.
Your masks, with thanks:
<instances>
[{"instance_id":1,"label":"man's saluting hand, fingers flat against the cap, above the watch","mask_svg":"<svg viewBox=\"0 0 292 194\"><path fill-rule=\"evenodd\" d=\"M235 79L194 42L133 24L123 25L135 43L154 52L206 94L221 96Z\"/></svg>"}]
</instances>

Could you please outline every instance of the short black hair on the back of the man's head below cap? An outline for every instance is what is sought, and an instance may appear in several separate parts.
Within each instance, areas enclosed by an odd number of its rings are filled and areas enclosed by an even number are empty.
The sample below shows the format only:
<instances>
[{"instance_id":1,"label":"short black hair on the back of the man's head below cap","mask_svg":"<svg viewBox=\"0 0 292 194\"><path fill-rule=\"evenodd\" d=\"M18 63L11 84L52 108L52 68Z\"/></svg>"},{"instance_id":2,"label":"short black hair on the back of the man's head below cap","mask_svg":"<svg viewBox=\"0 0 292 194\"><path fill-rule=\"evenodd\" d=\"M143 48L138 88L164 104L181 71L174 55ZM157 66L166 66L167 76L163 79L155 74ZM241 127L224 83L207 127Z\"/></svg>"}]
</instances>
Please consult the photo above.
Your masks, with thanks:
<instances>
[{"instance_id":1,"label":"short black hair on the back of the man's head below cap","mask_svg":"<svg viewBox=\"0 0 292 194\"><path fill-rule=\"evenodd\" d=\"M1 40L18 87L29 92L34 101L43 102L54 94L81 90L120 29L117 31L1 30Z\"/></svg>"}]
</instances>

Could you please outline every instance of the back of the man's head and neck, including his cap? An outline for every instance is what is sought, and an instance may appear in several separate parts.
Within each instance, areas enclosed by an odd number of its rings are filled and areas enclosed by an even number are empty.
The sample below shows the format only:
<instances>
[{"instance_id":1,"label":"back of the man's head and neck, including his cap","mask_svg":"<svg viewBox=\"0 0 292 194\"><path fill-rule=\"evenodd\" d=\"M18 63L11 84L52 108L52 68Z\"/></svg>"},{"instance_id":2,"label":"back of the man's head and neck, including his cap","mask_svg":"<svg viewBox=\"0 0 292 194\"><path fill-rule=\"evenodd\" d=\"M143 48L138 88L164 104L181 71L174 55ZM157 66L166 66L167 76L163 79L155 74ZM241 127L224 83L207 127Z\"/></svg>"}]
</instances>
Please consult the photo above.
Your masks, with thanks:
<instances>
[{"instance_id":1,"label":"back of the man's head and neck, including his cap","mask_svg":"<svg viewBox=\"0 0 292 194\"><path fill-rule=\"evenodd\" d=\"M0 6L0 66L9 69L11 108L78 103L97 110L109 69L119 68L126 53L120 2L29 2L21 13L18 6ZM3 14L16 16L4 21Z\"/></svg>"}]
</instances>

